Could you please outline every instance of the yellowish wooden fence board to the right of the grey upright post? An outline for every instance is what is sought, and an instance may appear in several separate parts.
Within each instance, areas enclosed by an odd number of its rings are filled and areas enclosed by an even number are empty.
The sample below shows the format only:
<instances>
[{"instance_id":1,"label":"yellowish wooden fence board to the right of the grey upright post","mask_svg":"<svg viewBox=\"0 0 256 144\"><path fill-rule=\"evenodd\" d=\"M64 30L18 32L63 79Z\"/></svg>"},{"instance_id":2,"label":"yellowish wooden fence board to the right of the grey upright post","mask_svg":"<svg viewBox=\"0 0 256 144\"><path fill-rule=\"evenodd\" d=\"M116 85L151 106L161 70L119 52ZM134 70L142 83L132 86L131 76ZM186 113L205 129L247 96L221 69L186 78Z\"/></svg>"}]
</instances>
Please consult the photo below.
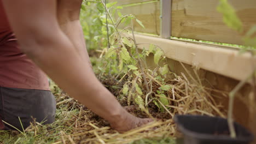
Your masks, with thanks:
<instances>
[{"instance_id":1,"label":"yellowish wooden fence board to the right of the grey upright post","mask_svg":"<svg viewBox=\"0 0 256 144\"><path fill-rule=\"evenodd\" d=\"M256 24L255 0L230 0L245 31ZM216 10L218 0L173 0L172 36L220 43L243 44L242 35L223 23L222 15Z\"/></svg>"}]
</instances>

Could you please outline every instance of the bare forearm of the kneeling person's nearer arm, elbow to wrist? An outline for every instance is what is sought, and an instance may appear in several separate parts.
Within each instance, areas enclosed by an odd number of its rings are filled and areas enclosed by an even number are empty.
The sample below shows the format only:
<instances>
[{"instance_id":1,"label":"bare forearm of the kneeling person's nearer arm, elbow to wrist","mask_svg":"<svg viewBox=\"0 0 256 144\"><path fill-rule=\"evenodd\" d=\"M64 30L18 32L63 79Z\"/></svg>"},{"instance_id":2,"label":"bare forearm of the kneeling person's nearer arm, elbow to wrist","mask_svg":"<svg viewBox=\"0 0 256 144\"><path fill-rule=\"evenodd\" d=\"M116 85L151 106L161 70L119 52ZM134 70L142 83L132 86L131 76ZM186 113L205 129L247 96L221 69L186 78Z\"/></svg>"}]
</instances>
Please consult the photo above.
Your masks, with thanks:
<instances>
[{"instance_id":1,"label":"bare forearm of the kneeling person's nearer arm, elbow to wrist","mask_svg":"<svg viewBox=\"0 0 256 144\"><path fill-rule=\"evenodd\" d=\"M112 121L113 116L123 111L120 104L96 79L90 64L78 56L66 35L58 33L51 37L49 43L30 45L40 51L28 53L28 56L72 97Z\"/></svg>"}]
</instances>

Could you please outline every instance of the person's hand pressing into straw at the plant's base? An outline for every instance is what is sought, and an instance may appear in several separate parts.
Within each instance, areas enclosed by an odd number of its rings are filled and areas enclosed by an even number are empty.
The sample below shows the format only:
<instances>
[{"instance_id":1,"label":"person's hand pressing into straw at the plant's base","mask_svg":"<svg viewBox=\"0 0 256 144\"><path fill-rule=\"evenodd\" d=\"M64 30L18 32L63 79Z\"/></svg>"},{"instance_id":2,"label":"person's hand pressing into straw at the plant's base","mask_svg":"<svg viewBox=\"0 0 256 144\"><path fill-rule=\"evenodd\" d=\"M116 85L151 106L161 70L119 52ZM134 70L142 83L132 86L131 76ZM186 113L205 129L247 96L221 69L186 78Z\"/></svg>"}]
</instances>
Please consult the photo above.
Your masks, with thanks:
<instances>
[{"instance_id":1,"label":"person's hand pressing into straw at the plant's base","mask_svg":"<svg viewBox=\"0 0 256 144\"><path fill-rule=\"evenodd\" d=\"M117 119L116 122L110 123L110 126L113 129L122 133L125 131L129 131L131 129L134 129L136 127L140 127L140 126L147 124L149 122L152 122L152 121L153 121L153 119L151 119L151 118L135 117L124 109L124 112L123 112L121 118Z\"/></svg>"}]
</instances>

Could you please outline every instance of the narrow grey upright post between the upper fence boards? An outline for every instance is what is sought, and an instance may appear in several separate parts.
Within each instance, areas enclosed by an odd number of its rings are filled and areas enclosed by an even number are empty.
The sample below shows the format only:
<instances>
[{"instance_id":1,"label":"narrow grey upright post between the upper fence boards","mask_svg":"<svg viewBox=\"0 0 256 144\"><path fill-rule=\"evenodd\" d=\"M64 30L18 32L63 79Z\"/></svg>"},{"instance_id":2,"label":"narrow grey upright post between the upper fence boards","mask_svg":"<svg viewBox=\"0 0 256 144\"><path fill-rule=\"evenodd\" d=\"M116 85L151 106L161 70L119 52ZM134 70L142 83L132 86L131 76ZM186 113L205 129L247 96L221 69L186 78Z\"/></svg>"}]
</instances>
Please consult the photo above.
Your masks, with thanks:
<instances>
[{"instance_id":1,"label":"narrow grey upright post between the upper fence boards","mask_svg":"<svg viewBox=\"0 0 256 144\"><path fill-rule=\"evenodd\" d=\"M171 37L172 0L161 0L161 38Z\"/></svg>"}]
</instances>

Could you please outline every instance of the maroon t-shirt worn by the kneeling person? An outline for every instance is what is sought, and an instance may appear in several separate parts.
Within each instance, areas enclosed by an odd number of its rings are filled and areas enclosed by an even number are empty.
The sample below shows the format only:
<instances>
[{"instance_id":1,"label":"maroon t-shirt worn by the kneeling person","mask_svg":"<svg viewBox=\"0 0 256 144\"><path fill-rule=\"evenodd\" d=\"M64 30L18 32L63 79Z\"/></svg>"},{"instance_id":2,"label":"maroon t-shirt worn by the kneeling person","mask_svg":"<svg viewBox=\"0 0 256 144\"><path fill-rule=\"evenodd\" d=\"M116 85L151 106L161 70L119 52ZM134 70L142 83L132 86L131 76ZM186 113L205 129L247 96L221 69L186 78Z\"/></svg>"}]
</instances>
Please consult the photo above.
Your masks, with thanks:
<instances>
[{"instance_id":1,"label":"maroon t-shirt worn by the kneeling person","mask_svg":"<svg viewBox=\"0 0 256 144\"><path fill-rule=\"evenodd\" d=\"M0 86L49 90L47 76L19 49L0 0Z\"/></svg>"}]
</instances>

